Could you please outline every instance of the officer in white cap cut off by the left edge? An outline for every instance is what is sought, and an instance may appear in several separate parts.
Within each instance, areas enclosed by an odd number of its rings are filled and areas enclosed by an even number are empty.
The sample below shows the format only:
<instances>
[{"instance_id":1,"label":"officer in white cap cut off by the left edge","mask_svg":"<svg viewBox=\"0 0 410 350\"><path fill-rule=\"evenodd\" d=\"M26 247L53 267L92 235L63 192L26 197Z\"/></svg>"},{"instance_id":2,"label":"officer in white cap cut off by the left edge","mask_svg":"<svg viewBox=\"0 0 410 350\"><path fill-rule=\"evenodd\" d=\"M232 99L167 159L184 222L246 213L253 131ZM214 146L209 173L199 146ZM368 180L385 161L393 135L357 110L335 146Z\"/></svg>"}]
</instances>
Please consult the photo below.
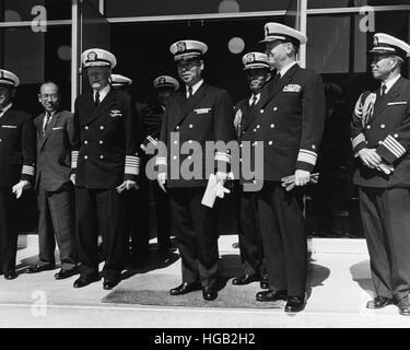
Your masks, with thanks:
<instances>
[{"instance_id":1,"label":"officer in white cap cut off by the left edge","mask_svg":"<svg viewBox=\"0 0 410 350\"><path fill-rule=\"evenodd\" d=\"M17 199L34 180L33 120L12 102L19 84L17 75L0 69L0 273L7 280L17 277Z\"/></svg>"}]
</instances>

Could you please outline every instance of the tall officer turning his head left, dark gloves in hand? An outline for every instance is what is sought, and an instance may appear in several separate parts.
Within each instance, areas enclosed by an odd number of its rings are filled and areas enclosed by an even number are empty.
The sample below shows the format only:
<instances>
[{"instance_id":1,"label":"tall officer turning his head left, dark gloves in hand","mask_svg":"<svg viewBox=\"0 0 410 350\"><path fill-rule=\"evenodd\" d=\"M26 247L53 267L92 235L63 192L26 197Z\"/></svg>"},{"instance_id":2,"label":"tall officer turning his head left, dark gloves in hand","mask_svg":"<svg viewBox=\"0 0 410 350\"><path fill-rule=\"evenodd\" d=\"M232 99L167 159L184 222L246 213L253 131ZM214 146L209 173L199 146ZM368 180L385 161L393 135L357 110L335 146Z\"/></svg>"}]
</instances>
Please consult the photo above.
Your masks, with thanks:
<instances>
[{"instance_id":1,"label":"tall officer turning his head left, dark gloves in hand","mask_svg":"<svg viewBox=\"0 0 410 350\"><path fill-rule=\"evenodd\" d=\"M261 302L285 300L285 312L305 306L307 243L300 191L309 182L325 122L321 78L296 62L298 47L306 40L285 25L265 25L262 42L278 73L265 85L249 126L255 142L263 142L263 185L257 196L269 275L269 290L256 298ZM288 176L296 186L291 190L281 186Z\"/></svg>"}]
</instances>

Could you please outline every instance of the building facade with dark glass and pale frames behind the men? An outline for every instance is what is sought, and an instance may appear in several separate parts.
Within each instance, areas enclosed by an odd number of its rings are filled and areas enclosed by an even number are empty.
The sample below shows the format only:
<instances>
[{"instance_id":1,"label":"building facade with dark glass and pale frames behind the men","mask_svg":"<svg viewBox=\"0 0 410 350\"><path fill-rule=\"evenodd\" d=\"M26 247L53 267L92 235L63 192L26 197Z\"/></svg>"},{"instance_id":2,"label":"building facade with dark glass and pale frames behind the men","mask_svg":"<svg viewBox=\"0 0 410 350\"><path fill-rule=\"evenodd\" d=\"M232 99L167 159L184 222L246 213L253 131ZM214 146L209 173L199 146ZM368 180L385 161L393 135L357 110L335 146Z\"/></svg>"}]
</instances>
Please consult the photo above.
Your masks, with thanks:
<instances>
[{"instance_id":1,"label":"building facade with dark glass and pale frames behind the men","mask_svg":"<svg viewBox=\"0 0 410 350\"><path fill-rule=\"evenodd\" d=\"M168 47L181 38L209 46L204 77L226 89L233 101L247 94L242 55L262 50L266 22L293 26L308 37L298 60L318 71L325 82L327 124L318 171L319 186L308 189L305 212L316 235L362 236L349 122L354 103L377 84L370 74L366 51L374 33L410 42L409 0L3 0L0 2L0 67L22 83L15 104L33 116L40 112L37 90L45 80L61 86L70 109L83 85L80 54L106 48L118 58L115 72L132 79L137 101L154 103L152 81L176 75ZM402 74L409 78L405 66ZM24 206L33 208L35 196ZM233 203L224 202L227 218ZM33 210L22 212L22 230L35 224ZM232 233L230 220L221 232Z\"/></svg>"}]
</instances>

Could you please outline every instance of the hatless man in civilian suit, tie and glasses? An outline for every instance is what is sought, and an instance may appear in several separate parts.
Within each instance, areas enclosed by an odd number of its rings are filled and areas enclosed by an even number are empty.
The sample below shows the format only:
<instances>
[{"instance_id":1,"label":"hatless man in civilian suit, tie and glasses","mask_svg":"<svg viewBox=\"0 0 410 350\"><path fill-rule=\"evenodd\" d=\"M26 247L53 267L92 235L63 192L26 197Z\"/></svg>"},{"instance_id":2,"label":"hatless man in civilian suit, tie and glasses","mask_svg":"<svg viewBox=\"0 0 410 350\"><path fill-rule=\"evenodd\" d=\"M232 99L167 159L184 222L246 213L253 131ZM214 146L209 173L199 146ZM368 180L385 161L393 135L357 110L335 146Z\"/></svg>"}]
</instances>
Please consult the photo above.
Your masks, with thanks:
<instances>
[{"instance_id":1,"label":"hatless man in civilian suit, tie and glasses","mask_svg":"<svg viewBox=\"0 0 410 350\"><path fill-rule=\"evenodd\" d=\"M70 182L72 113L59 109L60 93L56 83L42 84L38 101L44 107L34 125L37 130L36 189L38 190L38 262L27 273L55 268L56 241L61 269L55 278L66 279L77 272L74 233L74 194Z\"/></svg>"}]
</instances>

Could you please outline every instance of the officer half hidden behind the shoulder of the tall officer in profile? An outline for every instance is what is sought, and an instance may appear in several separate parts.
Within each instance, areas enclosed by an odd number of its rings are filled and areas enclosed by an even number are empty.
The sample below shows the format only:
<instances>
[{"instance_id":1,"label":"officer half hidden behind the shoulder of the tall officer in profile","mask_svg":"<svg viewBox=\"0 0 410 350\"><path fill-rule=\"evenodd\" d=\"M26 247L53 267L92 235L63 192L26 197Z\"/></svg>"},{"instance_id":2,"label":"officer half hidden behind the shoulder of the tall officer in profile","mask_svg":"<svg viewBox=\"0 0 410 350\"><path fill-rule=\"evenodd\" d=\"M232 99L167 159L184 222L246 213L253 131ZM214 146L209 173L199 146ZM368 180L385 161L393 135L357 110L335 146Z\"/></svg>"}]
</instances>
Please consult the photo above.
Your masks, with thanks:
<instances>
[{"instance_id":1,"label":"officer half hidden behind the shoulder of the tall officer in profile","mask_svg":"<svg viewBox=\"0 0 410 350\"><path fill-rule=\"evenodd\" d=\"M260 102L260 94L265 83L270 79L270 66L268 56L262 52L248 52L243 56L246 81L249 85L250 97L239 101L235 105L234 125L238 142L243 138L253 138L254 130L249 128L255 110ZM254 112L254 113L251 113ZM268 288L265 278L263 247L259 230L257 200L255 191L244 190L241 179L239 210L238 210L238 236L243 275L234 278L232 284L243 285L254 281L260 281L260 287Z\"/></svg>"}]
</instances>

